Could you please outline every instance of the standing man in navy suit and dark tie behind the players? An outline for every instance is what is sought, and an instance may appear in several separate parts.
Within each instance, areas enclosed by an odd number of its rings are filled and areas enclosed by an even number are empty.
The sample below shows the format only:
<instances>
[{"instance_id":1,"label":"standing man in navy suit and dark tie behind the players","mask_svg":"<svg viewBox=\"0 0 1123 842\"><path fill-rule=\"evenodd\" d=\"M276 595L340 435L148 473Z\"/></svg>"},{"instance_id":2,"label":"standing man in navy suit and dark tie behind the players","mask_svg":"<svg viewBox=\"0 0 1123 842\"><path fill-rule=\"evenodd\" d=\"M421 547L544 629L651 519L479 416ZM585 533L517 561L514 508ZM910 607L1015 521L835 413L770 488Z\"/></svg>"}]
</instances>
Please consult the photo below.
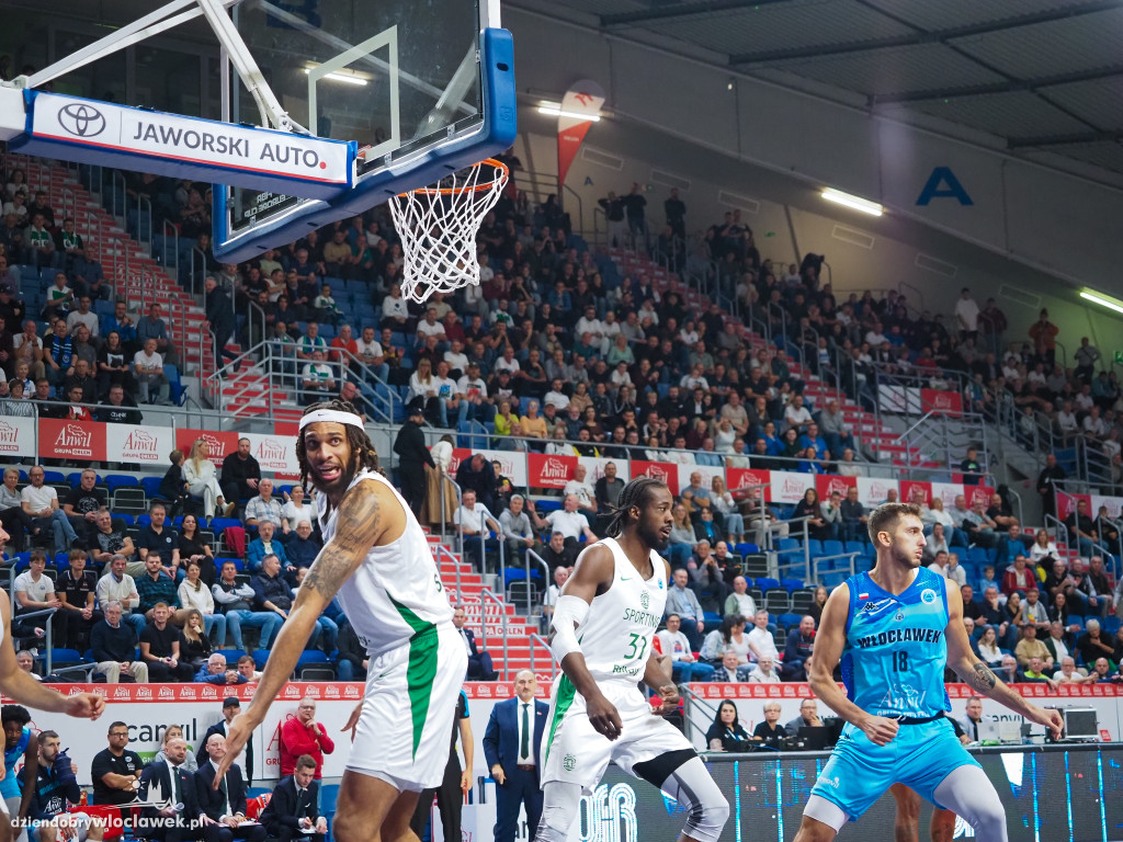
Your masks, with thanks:
<instances>
[{"instance_id":1,"label":"standing man in navy suit and dark tie behind the players","mask_svg":"<svg viewBox=\"0 0 1123 842\"><path fill-rule=\"evenodd\" d=\"M535 674L514 677L515 698L492 708L484 732L484 758L495 779L495 842L514 842L519 806L527 807L527 838L538 832L542 815L539 747L549 705L535 699Z\"/></svg>"}]
</instances>

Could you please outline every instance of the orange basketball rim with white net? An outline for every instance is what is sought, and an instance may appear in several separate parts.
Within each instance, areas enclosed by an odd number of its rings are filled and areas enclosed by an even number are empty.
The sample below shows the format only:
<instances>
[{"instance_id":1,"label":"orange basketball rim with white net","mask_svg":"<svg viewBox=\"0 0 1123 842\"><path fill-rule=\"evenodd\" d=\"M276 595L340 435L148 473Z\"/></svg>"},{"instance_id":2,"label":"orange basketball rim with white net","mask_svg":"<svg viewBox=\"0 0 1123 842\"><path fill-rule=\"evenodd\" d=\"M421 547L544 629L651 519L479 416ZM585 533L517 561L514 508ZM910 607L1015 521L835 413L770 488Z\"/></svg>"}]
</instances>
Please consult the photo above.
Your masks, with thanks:
<instances>
[{"instance_id":1,"label":"orange basketball rim with white net","mask_svg":"<svg viewBox=\"0 0 1123 842\"><path fill-rule=\"evenodd\" d=\"M506 164L487 158L437 186L399 193L390 200L405 264L402 295L420 304L435 292L480 283L476 234L506 180Z\"/></svg>"}]
</instances>

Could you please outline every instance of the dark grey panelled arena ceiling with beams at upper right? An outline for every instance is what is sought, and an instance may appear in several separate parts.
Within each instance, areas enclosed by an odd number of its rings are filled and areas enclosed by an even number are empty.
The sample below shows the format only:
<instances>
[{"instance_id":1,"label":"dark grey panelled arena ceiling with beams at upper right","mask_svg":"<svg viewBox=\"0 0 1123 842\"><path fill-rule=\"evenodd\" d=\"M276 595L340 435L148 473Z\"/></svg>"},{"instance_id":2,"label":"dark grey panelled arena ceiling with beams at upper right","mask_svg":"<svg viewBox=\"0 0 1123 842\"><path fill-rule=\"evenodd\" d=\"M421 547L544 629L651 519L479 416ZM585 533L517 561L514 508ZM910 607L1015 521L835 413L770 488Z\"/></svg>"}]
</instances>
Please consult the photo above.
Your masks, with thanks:
<instances>
[{"instance_id":1,"label":"dark grey panelled arena ceiling with beams at upper right","mask_svg":"<svg viewBox=\"0 0 1123 842\"><path fill-rule=\"evenodd\" d=\"M1123 0L508 0L1011 153L1123 173Z\"/></svg>"}]
</instances>

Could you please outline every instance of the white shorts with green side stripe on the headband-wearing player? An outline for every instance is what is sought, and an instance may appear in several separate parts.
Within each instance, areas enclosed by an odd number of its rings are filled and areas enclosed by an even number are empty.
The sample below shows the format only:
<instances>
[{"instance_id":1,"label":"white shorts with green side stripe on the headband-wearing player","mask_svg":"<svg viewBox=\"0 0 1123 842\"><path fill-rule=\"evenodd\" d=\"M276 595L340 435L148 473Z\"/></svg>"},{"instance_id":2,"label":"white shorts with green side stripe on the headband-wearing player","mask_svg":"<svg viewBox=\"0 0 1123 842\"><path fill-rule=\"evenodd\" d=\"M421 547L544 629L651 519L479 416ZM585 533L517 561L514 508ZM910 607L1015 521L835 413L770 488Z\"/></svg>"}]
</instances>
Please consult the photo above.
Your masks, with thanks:
<instances>
[{"instance_id":1,"label":"white shorts with green side stripe on the headband-wearing player","mask_svg":"<svg viewBox=\"0 0 1123 842\"><path fill-rule=\"evenodd\" d=\"M403 791L439 786L467 670L451 623L372 659L347 768Z\"/></svg>"}]
</instances>

